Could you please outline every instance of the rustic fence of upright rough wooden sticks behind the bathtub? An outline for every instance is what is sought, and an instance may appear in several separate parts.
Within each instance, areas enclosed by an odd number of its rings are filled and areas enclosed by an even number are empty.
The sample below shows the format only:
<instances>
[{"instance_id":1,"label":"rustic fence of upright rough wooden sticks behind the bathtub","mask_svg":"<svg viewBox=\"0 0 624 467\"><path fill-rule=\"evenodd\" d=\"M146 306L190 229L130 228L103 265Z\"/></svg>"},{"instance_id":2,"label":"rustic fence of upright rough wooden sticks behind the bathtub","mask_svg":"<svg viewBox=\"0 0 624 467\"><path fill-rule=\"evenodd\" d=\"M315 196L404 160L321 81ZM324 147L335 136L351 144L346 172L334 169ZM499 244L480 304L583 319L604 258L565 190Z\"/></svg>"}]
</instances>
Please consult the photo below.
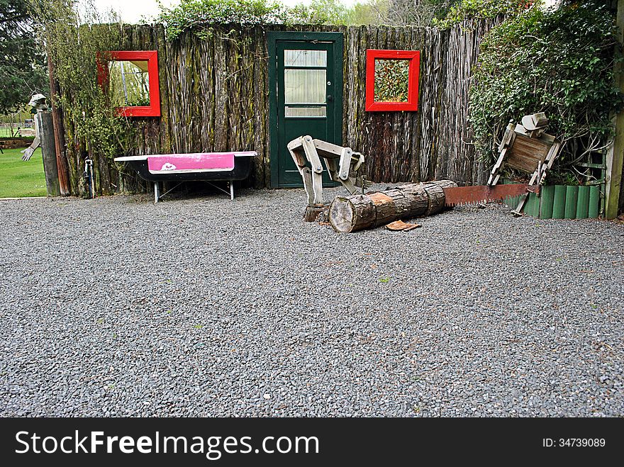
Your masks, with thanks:
<instances>
[{"instance_id":1,"label":"rustic fence of upright rough wooden sticks behind the bathtub","mask_svg":"<svg viewBox=\"0 0 624 467\"><path fill-rule=\"evenodd\" d=\"M300 26L272 30L344 34L343 143L367 157L367 179L379 182L452 179L482 183L486 176L470 145L468 86L479 43L496 20L450 30L391 26ZM128 154L255 150L250 184L269 186L267 28L218 26L206 38L186 32L172 42L161 25L128 26L121 50L158 50L161 118L133 118ZM420 50L416 112L364 111L367 49ZM62 89L61 89L62 92ZM65 120L65 157L75 177L84 144ZM93 142L91 142L91 145ZM80 149L82 149L82 154ZM94 158L96 191L143 191L145 182L103 157ZM120 173L118 170L121 170Z\"/></svg>"}]
</instances>

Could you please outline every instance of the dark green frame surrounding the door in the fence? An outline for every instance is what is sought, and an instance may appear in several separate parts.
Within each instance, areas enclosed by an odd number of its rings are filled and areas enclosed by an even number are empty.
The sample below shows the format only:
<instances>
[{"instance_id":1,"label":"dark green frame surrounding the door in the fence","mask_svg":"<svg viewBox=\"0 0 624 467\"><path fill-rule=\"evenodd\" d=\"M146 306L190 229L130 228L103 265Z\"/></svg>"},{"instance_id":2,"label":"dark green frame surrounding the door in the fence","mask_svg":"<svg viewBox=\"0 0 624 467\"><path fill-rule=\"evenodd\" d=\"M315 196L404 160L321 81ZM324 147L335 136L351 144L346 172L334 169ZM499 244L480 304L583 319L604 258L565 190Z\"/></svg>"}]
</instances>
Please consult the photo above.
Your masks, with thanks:
<instances>
[{"instance_id":1,"label":"dark green frame surrounding the door in the fence","mask_svg":"<svg viewBox=\"0 0 624 467\"><path fill-rule=\"evenodd\" d=\"M335 87L335 91L338 93L334 96L334 141L338 145L342 145L342 93L345 89L345 84L342 81L342 61L343 50L342 33L318 33L311 31L269 31L267 33L267 45L269 52L269 166L271 169L271 188L279 188L279 147L277 147L278 134L277 134L277 41L278 40L300 40L300 41L314 41L333 43L334 52L334 73L335 82L340 83L340 90L338 86ZM334 91L334 92L335 92ZM290 186L290 185L289 185ZM294 186L294 185L293 185ZM301 185L303 186L303 181Z\"/></svg>"}]
</instances>

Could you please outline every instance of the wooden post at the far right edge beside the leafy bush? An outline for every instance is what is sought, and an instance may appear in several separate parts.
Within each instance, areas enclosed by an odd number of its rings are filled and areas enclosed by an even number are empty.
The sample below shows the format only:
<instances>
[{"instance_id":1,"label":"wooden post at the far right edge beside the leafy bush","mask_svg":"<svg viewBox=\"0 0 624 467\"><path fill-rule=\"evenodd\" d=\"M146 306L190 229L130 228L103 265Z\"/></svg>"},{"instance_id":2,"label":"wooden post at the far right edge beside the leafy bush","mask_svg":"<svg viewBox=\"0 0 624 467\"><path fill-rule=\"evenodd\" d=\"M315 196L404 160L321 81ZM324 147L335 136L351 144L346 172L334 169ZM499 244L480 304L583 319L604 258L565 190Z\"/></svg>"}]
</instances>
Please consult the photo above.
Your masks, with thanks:
<instances>
[{"instance_id":1,"label":"wooden post at the far right edge beside the leafy bush","mask_svg":"<svg viewBox=\"0 0 624 467\"><path fill-rule=\"evenodd\" d=\"M620 43L624 44L624 0L618 0L618 29ZM615 80L624 92L624 69L622 62L615 65ZM622 165L624 164L624 111L615 116L615 137L606 157L606 203L605 218L615 219L620 210L620 190L622 189Z\"/></svg>"}]
</instances>

